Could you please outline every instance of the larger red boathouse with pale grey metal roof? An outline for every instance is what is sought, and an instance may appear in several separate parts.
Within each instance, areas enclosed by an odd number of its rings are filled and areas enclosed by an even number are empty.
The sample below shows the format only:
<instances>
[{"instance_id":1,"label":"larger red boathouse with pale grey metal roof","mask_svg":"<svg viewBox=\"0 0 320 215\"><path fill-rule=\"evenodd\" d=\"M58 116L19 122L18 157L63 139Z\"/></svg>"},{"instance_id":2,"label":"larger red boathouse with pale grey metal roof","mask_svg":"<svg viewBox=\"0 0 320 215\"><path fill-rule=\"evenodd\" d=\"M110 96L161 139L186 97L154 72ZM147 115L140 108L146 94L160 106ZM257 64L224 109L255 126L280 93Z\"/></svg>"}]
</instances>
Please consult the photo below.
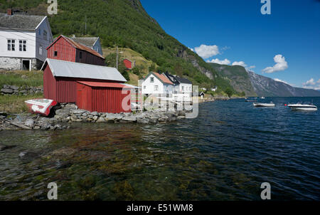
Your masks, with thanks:
<instances>
[{"instance_id":1,"label":"larger red boathouse with pale grey metal roof","mask_svg":"<svg viewBox=\"0 0 320 215\"><path fill-rule=\"evenodd\" d=\"M75 103L77 81L124 83L127 80L116 68L74 63L47 58L43 70L43 94L58 103Z\"/></svg>"}]
</instances>

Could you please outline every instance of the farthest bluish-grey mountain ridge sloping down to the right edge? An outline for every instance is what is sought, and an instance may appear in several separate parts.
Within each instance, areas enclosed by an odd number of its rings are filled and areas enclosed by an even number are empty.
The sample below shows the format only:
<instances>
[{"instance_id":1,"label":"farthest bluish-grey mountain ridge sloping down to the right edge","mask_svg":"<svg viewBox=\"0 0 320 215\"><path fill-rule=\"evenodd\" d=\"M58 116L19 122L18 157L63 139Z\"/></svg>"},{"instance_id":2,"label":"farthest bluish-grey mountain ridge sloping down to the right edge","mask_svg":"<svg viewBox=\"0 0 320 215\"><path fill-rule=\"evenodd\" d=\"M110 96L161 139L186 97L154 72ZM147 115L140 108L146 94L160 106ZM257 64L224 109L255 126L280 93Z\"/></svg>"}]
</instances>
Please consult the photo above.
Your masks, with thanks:
<instances>
[{"instance_id":1,"label":"farthest bluish-grey mountain ridge sloping down to the right edge","mask_svg":"<svg viewBox=\"0 0 320 215\"><path fill-rule=\"evenodd\" d=\"M294 88L283 82L267 78L256 73L249 72L250 80L253 88L258 96L320 96L318 90L311 90L305 88Z\"/></svg>"}]
</instances>

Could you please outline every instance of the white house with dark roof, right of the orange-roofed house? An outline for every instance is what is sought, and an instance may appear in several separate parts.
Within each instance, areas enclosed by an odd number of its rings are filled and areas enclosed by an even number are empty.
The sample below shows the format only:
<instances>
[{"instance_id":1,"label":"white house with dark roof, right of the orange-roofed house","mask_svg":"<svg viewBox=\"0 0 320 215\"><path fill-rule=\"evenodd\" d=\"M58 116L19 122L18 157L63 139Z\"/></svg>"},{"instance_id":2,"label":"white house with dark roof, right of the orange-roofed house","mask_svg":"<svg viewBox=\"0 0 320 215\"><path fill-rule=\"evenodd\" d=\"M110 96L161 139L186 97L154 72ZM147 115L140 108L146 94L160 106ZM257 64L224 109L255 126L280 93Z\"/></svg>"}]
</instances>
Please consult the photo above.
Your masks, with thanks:
<instances>
[{"instance_id":1,"label":"white house with dark roof, right of the orange-roofed house","mask_svg":"<svg viewBox=\"0 0 320 215\"><path fill-rule=\"evenodd\" d=\"M180 78L177 75L164 73L166 77L174 83L173 98L177 101L190 101L192 98L192 82L186 78Z\"/></svg>"}]
</instances>

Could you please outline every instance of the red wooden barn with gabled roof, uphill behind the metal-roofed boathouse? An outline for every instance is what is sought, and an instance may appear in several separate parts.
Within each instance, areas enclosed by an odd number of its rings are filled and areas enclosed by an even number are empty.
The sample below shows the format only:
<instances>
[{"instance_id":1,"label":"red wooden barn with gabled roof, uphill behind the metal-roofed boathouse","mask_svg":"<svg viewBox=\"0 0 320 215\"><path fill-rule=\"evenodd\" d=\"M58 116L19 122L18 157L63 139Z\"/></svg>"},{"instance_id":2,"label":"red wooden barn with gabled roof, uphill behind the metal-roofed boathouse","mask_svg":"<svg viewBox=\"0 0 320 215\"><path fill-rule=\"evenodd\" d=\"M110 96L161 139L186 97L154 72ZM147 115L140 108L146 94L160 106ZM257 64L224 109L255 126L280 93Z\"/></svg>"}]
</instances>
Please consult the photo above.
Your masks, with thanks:
<instances>
[{"instance_id":1,"label":"red wooden barn with gabled roof, uphill behind the metal-roofed boathouse","mask_svg":"<svg viewBox=\"0 0 320 215\"><path fill-rule=\"evenodd\" d=\"M46 48L48 58L92 65L105 65L105 58L97 51L60 35Z\"/></svg>"}]
</instances>

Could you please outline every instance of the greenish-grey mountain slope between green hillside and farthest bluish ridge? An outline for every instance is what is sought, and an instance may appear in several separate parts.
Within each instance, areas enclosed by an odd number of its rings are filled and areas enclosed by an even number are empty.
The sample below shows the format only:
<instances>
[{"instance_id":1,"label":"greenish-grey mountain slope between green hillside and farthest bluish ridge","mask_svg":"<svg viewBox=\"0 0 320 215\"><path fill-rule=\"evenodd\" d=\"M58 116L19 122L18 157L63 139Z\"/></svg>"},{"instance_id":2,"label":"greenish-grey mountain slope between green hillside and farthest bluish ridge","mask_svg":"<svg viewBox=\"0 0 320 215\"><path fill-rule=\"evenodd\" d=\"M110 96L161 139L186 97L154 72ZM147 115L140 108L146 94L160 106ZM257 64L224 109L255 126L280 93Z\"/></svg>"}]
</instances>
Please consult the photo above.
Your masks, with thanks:
<instances>
[{"instance_id":1,"label":"greenish-grey mountain slope between green hillside and farthest bluish ridge","mask_svg":"<svg viewBox=\"0 0 320 215\"><path fill-rule=\"evenodd\" d=\"M228 78L230 85L238 92L245 92L247 96L257 96L252 87L247 70L240 65L220 65L218 63L208 63L221 76Z\"/></svg>"}]
</instances>

